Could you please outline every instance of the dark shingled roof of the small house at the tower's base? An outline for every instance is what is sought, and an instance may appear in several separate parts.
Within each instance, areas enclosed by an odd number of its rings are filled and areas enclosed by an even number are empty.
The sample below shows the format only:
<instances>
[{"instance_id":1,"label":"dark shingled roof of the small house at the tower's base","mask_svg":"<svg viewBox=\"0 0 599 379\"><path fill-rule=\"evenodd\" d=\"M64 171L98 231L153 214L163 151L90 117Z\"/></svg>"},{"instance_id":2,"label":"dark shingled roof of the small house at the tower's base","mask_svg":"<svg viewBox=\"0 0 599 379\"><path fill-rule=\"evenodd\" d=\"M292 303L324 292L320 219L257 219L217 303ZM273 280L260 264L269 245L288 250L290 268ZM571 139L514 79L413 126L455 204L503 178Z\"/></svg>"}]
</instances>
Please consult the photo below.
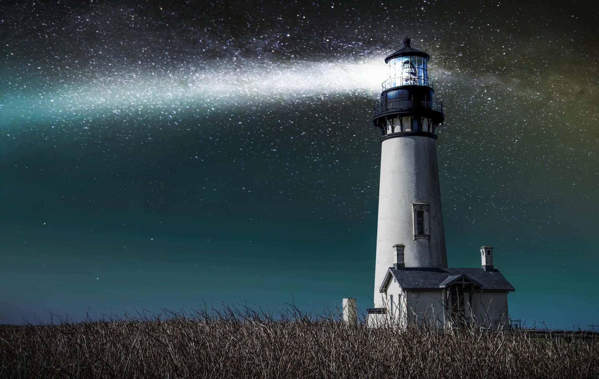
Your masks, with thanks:
<instances>
[{"instance_id":1,"label":"dark shingled roof of the small house at the tower's base","mask_svg":"<svg viewBox=\"0 0 599 379\"><path fill-rule=\"evenodd\" d=\"M380 287L380 292L387 288L387 283L389 283L391 277L394 277L403 289L432 290L445 288L454 281L464 278L483 291L515 290L498 269L485 271L482 268L406 267L406 269L398 270L390 267Z\"/></svg>"}]
</instances>

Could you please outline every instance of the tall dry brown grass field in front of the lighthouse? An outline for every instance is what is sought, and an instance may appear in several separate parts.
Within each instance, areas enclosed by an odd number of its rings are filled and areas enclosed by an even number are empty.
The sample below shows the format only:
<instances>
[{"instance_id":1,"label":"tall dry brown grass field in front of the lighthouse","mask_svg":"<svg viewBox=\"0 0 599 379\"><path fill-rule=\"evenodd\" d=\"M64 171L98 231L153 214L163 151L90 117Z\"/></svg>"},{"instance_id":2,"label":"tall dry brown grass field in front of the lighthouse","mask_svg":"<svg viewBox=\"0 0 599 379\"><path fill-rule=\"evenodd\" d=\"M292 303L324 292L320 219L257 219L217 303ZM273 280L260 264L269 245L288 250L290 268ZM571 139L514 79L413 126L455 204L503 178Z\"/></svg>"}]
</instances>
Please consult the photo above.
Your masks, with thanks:
<instances>
[{"instance_id":1,"label":"tall dry brown grass field in front of the lighthouse","mask_svg":"<svg viewBox=\"0 0 599 379\"><path fill-rule=\"evenodd\" d=\"M594 338L347 328L225 307L0 327L1 378L597 378ZM363 321L363 320L362 320Z\"/></svg>"}]
</instances>

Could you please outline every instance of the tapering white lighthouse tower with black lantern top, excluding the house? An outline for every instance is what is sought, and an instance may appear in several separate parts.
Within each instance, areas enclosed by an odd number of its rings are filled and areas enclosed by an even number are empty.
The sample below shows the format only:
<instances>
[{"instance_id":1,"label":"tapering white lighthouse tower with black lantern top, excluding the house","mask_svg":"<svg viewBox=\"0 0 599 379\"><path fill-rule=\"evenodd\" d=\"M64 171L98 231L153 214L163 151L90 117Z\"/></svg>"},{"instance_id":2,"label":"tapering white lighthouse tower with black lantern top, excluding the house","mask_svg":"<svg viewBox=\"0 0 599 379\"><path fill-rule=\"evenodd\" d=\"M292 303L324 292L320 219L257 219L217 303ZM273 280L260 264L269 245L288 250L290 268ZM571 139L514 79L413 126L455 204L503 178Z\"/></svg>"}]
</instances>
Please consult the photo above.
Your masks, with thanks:
<instances>
[{"instance_id":1,"label":"tapering white lighthouse tower with black lantern top, excluding the house","mask_svg":"<svg viewBox=\"0 0 599 379\"><path fill-rule=\"evenodd\" d=\"M389 77L383 82L373 124L381 141L379 222L374 274L374 301L395 255L405 245L406 267L447 267L435 128L443 122L443 104L432 98L428 54L410 47L385 58Z\"/></svg>"}]
</instances>

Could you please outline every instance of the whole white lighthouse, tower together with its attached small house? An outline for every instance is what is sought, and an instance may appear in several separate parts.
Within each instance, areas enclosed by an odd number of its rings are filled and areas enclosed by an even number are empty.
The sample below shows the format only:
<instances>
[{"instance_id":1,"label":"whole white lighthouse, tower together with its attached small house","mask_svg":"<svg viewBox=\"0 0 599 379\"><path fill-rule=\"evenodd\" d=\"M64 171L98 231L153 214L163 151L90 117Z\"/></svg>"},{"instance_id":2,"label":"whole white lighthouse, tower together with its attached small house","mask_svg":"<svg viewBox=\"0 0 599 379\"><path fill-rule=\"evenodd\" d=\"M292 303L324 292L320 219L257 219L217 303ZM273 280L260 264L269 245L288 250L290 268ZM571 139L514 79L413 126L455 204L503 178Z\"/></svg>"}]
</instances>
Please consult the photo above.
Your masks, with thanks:
<instances>
[{"instance_id":1,"label":"whole white lighthouse, tower together with its attached small house","mask_svg":"<svg viewBox=\"0 0 599 379\"><path fill-rule=\"evenodd\" d=\"M388 77L373 111L382 137L374 308L368 323L478 322L504 326L512 285L481 248L481 268L447 268L435 134L444 120L434 98L429 55L411 46L385 58Z\"/></svg>"}]
</instances>

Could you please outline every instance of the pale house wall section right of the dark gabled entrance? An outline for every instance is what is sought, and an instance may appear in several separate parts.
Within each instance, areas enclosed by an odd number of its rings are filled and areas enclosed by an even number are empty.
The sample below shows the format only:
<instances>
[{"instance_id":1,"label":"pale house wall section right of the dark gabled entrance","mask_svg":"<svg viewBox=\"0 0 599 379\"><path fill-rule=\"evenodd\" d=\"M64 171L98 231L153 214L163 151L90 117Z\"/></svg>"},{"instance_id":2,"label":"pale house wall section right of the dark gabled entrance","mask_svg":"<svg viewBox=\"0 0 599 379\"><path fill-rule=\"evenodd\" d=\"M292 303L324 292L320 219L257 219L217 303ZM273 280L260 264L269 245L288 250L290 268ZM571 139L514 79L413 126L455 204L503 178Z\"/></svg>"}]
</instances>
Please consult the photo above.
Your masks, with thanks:
<instances>
[{"instance_id":1,"label":"pale house wall section right of the dark gabled entrance","mask_svg":"<svg viewBox=\"0 0 599 379\"><path fill-rule=\"evenodd\" d=\"M470 307L473 319L486 328L509 326L507 292L474 292Z\"/></svg>"}]
</instances>

